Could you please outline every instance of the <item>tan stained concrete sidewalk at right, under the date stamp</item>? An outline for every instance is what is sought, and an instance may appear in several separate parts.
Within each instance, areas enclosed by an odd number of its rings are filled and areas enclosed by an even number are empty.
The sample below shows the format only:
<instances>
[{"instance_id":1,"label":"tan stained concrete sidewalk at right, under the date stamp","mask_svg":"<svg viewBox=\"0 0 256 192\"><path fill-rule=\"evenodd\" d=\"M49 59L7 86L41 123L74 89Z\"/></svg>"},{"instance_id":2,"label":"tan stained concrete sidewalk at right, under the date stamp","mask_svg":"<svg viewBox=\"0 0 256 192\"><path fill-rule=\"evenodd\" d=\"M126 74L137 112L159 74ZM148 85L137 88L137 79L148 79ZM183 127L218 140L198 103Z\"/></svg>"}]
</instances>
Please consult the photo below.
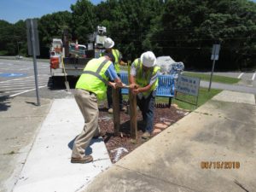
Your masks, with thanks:
<instances>
[{"instance_id":1,"label":"tan stained concrete sidewalk at right, under the date stamp","mask_svg":"<svg viewBox=\"0 0 256 192\"><path fill-rule=\"evenodd\" d=\"M102 172L83 191L256 191L255 116L253 95L224 90ZM201 162L212 166L203 169Z\"/></svg>"}]
</instances>

